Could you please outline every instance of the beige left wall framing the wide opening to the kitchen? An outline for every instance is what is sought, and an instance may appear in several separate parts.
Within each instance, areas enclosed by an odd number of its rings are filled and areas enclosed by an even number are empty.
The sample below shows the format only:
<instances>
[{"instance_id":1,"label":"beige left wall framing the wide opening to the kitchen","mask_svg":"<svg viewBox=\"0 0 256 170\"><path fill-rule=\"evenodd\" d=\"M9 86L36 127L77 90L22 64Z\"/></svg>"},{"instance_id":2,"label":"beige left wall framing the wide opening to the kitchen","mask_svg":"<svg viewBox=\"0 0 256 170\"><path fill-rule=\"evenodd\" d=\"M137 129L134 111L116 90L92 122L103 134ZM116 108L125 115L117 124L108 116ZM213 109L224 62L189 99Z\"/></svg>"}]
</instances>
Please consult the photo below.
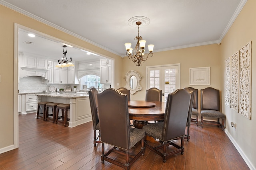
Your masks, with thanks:
<instances>
[{"instance_id":1,"label":"beige left wall framing the wide opening to the kitchen","mask_svg":"<svg viewBox=\"0 0 256 170\"><path fill-rule=\"evenodd\" d=\"M14 23L40 31L91 51L96 51L104 57L111 57L115 59L115 69L121 69L121 57L10 10L2 5L0 5L0 21L0 149L14 144ZM119 71L114 72L114 76L116 81L120 81L120 78L122 78Z\"/></svg>"}]
</instances>

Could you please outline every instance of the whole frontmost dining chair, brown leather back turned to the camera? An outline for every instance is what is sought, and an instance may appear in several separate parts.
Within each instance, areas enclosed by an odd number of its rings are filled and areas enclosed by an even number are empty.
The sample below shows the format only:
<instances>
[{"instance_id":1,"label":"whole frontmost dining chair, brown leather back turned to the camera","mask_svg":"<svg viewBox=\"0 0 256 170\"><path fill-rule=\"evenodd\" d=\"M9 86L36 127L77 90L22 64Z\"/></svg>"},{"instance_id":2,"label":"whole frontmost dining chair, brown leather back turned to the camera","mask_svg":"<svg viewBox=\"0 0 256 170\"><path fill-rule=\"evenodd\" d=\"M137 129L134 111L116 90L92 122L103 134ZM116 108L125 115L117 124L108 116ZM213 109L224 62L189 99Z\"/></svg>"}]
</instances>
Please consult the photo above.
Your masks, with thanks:
<instances>
[{"instance_id":1,"label":"whole frontmost dining chair, brown leather back turned to the camera","mask_svg":"<svg viewBox=\"0 0 256 170\"><path fill-rule=\"evenodd\" d=\"M140 155L144 155L145 132L142 129L130 127L127 94L109 88L98 93L97 98L102 142L101 161L104 163L106 160L128 170ZM139 141L142 145L140 151L130 152L130 149ZM105 143L113 146L106 153ZM125 161L120 160L120 156L116 159L111 157L112 152L123 156Z\"/></svg>"}]
</instances>

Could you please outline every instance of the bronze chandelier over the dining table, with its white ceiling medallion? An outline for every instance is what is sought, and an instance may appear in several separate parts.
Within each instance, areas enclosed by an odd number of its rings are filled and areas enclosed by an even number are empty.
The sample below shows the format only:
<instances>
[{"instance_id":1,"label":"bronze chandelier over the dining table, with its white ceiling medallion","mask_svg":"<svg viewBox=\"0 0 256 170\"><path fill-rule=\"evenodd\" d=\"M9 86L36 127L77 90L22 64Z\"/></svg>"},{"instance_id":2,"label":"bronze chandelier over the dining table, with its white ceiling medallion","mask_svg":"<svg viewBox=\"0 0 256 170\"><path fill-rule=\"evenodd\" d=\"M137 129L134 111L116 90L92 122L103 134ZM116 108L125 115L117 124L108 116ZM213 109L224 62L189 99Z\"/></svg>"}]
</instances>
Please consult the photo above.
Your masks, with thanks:
<instances>
[{"instance_id":1,"label":"bronze chandelier over the dining table, with its white ceiling medallion","mask_svg":"<svg viewBox=\"0 0 256 170\"><path fill-rule=\"evenodd\" d=\"M141 21L140 21L141 20ZM136 22L135 22L136 21ZM146 17L142 17L142 16L138 16L138 17L133 17L131 18L128 23L129 25L132 25L132 22L135 22L136 25L138 25L138 36L135 37L134 39L137 40L137 44L135 46L135 49L132 53L132 48L131 48L131 43L125 43L125 48L127 50L126 55L128 55L128 59L132 59L132 61L134 63L136 63L136 66L140 66L140 63L142 61L146 61L148 59L148 56L150 55L151 57L153 56L153 48L154 45L150 44L148 45L148 51L149 54L144 56L145 53L145 45L146 45L146 41L142 40L142 37L139 35L140 32L140 25L142 24L142 21L144 21L145 24L149 23L149 19Z\"/></svg>"}]
</instances>

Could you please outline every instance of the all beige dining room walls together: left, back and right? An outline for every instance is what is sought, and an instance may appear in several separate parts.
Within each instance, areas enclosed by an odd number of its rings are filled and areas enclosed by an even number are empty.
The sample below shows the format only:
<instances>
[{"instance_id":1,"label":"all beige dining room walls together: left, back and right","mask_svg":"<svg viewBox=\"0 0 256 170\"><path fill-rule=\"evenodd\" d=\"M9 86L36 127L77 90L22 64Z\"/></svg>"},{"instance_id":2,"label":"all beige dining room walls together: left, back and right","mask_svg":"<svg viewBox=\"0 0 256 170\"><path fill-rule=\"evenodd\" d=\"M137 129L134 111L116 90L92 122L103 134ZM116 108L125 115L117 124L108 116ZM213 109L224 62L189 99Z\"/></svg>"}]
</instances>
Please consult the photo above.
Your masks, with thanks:
<instances>
[{"instance_id":1,"label":"all beige dining room walls together: left, back and right","mask_svg":"<svg viewBox=\"0 0 256 170\"><path fill-rule=\"evenodd\" d=\"M14 23L19 23L37 31L52 35L59 39L85 47L102 55L115 59L115 88L125 85L123 79L126 72L136 70L142 75L142 91L131 96L131 100L144 100L146 90L146 66L180 63L181 67L181 88L189 86L189 68L210 66L211 87L220 89L222 92L222 111L226 114L226 133L238 148L242 156L250 164L256 167L256 90L252 88L252 120L239 115L232 109L224 106L224 63L225 60L238 51L243 45L252 41L252 87L256 86L256 1L249 0L242 12L224 37L221 45L204 45L186 49L164 51L154 53L142 66L136 66L127 57L120 57L86 43L76 37L72 37L62 31L58 31L48 25L28 18L22 14L14 12L4 6L0 6L0 149L13 145L13 75L14 75ZM143 36L143 35L142 35ZM171 39L171 37L170 37ZM6 64L8 63L8 64ZM119 86L117 86L119 83ZM208 86L192 86L203 89ZM6 90L7 89L7 90ZM237 123L237 128L230 127L230 121Z\"/></svg>"}]
</instances>

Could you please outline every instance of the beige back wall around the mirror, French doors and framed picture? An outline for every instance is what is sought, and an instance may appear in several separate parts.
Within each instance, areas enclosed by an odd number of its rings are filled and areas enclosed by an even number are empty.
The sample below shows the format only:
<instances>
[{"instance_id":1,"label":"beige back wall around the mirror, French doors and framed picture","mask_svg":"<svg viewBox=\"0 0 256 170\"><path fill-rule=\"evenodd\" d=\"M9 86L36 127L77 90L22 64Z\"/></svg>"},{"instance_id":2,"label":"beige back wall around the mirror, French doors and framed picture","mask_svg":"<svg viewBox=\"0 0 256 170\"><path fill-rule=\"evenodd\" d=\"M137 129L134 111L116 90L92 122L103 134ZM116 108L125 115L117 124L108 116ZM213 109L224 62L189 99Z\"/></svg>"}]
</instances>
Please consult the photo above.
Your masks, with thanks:
<instances>
[{"instance_id":1,"label":"beige back wall around the mirror, French doors and framed picture","mask_svg":"<svg viewBox=\"0 0 256 170\"><path fill-rule=\"evenodd\" d=\"M125 76L129 70L138 71L141 76L142 90L131 95L131 100L144 100L146 94L146 66L176 64L180 63L180 88L189 85L189 68L210 66L210 86L216 89L221 88L220 78L220 45L203 45L186 49L177 49L154 53L141 66L136 66L131 59L124 57L122 76ZM126 81L123 79L122 86ZM204 89L208 86L191 86L197 89Z\"/></svg>"}]
</instances>

